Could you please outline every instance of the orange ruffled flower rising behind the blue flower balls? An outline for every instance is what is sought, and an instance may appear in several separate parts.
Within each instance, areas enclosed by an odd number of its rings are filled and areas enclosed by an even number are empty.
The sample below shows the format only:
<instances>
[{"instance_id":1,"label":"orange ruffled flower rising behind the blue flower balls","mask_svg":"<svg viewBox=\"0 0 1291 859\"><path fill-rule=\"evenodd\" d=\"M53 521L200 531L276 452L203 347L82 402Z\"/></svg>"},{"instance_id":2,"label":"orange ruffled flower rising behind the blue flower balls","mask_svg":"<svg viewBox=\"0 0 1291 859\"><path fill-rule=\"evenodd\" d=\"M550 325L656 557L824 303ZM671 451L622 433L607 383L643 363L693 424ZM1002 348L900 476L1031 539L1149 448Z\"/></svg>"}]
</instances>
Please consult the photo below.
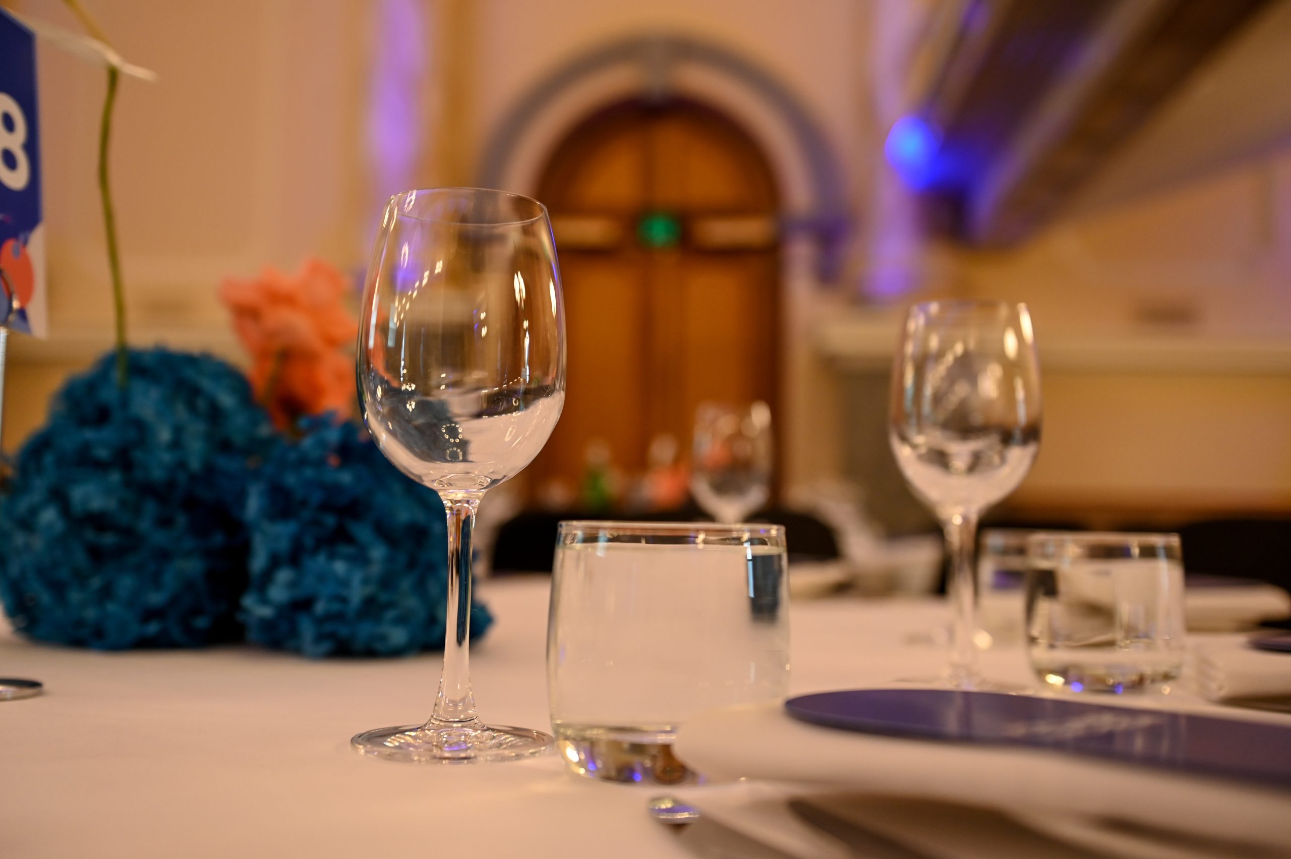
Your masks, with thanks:
<instances>
[{"instance_id":1,"label":"orange ruffled flower rising behind the blue flower balls","mask_svg":"<svg viewBox=\"0 0 1291 859\"><path fill-rule=\"evenodd\" d=\"M272 267L256 280L227 279L219 298L250 353L250 384L274 422L290 428L302 415L349 416L355 402L351 346L358 323L345 310L345 276L309 260L294 276Z\"/></svg>"}]
</instances>

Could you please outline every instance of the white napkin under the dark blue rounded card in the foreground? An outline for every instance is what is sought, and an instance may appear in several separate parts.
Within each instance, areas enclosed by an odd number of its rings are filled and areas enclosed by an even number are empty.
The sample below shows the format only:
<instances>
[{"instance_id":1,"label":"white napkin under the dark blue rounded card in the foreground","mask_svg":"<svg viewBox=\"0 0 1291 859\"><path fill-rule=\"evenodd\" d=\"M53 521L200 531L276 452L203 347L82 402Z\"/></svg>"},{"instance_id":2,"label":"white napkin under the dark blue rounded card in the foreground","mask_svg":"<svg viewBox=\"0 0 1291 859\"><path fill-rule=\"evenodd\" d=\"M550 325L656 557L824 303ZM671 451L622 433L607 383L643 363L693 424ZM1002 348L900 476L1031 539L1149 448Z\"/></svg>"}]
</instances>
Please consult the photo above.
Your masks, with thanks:
<instances>
[{"instance_id":1,"label":"white napkin under the dark blue rounded card in the foreground","mask_svg":"<svg viewBox=\"0 0 1291 859\"><path fill-rule=\"evenodd\" d=\"M837 731L768 704L696 716L676 754L713 779L749 778L973 805L1046 816L1117 819L1193 836L1291 843L1285 791L1056 752ZM688 801L691 798L688 797ZM702 810L702 802L696 802Z\"/></svg>"}]
</instances>

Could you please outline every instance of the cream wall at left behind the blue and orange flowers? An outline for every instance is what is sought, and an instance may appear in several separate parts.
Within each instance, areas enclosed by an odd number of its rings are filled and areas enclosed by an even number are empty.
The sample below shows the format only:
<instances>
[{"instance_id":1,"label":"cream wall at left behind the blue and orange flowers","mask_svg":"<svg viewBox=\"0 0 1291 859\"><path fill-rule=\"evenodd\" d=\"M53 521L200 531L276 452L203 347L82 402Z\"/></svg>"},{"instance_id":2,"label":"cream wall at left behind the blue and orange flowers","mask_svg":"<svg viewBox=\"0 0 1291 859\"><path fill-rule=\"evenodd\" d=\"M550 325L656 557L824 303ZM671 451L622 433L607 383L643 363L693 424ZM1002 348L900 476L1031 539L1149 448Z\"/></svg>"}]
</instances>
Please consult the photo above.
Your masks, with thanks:
<instances>
[{"instance_id":1,"label":"cream wall at left behind the blue and orange flowers","mask_svg":"<svg viewBox=\"0 0 1291 859\"><path fill-rule=\"evenodd\" d=\"M240 359L219 280L310 254L363 258L365 18L361 0L86 4L156 84L125 79L112 180L130 341ZM56 0L12 8L76 30ZM111 345L96 186L105 72L37 49L50 337L12 337L4 444L44 420L50 391Z\"/></svg>"}]
</instances>

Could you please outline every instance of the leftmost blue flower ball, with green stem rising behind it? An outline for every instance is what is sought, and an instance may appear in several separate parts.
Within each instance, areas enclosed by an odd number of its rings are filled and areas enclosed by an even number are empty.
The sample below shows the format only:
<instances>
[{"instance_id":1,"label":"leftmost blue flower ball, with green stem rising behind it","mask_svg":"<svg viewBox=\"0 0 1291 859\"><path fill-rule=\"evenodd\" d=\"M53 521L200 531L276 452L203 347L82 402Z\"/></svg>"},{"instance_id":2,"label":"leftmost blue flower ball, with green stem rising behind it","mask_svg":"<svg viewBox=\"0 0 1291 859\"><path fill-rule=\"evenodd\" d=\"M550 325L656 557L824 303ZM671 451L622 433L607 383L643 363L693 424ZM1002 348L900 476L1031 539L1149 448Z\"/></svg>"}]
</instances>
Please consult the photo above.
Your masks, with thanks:
<instances>
[{"instance_id":1,"label":"leftmost blue flower ball, with green stem rising behind it","mask_svg":"<svg viewBox=\"0 0 1291 859\"><path fill-rule=\"evenodd\" d=\"M72 377L0 500L0 601L31 638L196 647L239 634L249 471L274 444L243 373L167 349Z\"/></svg>"}]
</instances>

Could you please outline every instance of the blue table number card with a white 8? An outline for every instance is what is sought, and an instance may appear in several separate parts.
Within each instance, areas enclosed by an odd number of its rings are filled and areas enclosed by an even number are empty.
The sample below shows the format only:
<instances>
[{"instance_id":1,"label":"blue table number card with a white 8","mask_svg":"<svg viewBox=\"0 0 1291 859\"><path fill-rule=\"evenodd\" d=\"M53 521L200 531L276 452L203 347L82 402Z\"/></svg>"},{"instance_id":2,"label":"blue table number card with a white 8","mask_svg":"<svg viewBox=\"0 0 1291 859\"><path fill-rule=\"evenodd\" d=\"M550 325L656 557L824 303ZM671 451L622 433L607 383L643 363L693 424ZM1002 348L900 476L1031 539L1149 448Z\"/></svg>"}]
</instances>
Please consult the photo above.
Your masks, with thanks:
<instances>
[{"instance_id":1,"label":"blue table number card with a white 8","mask_svg":"<svg viewBox=\"0 0 1291 859\"><path fill-rule=\"evenodd\" d=\"M36 40L0 9L0 326L45 336Z\"/></svg>"}]
</instances>

